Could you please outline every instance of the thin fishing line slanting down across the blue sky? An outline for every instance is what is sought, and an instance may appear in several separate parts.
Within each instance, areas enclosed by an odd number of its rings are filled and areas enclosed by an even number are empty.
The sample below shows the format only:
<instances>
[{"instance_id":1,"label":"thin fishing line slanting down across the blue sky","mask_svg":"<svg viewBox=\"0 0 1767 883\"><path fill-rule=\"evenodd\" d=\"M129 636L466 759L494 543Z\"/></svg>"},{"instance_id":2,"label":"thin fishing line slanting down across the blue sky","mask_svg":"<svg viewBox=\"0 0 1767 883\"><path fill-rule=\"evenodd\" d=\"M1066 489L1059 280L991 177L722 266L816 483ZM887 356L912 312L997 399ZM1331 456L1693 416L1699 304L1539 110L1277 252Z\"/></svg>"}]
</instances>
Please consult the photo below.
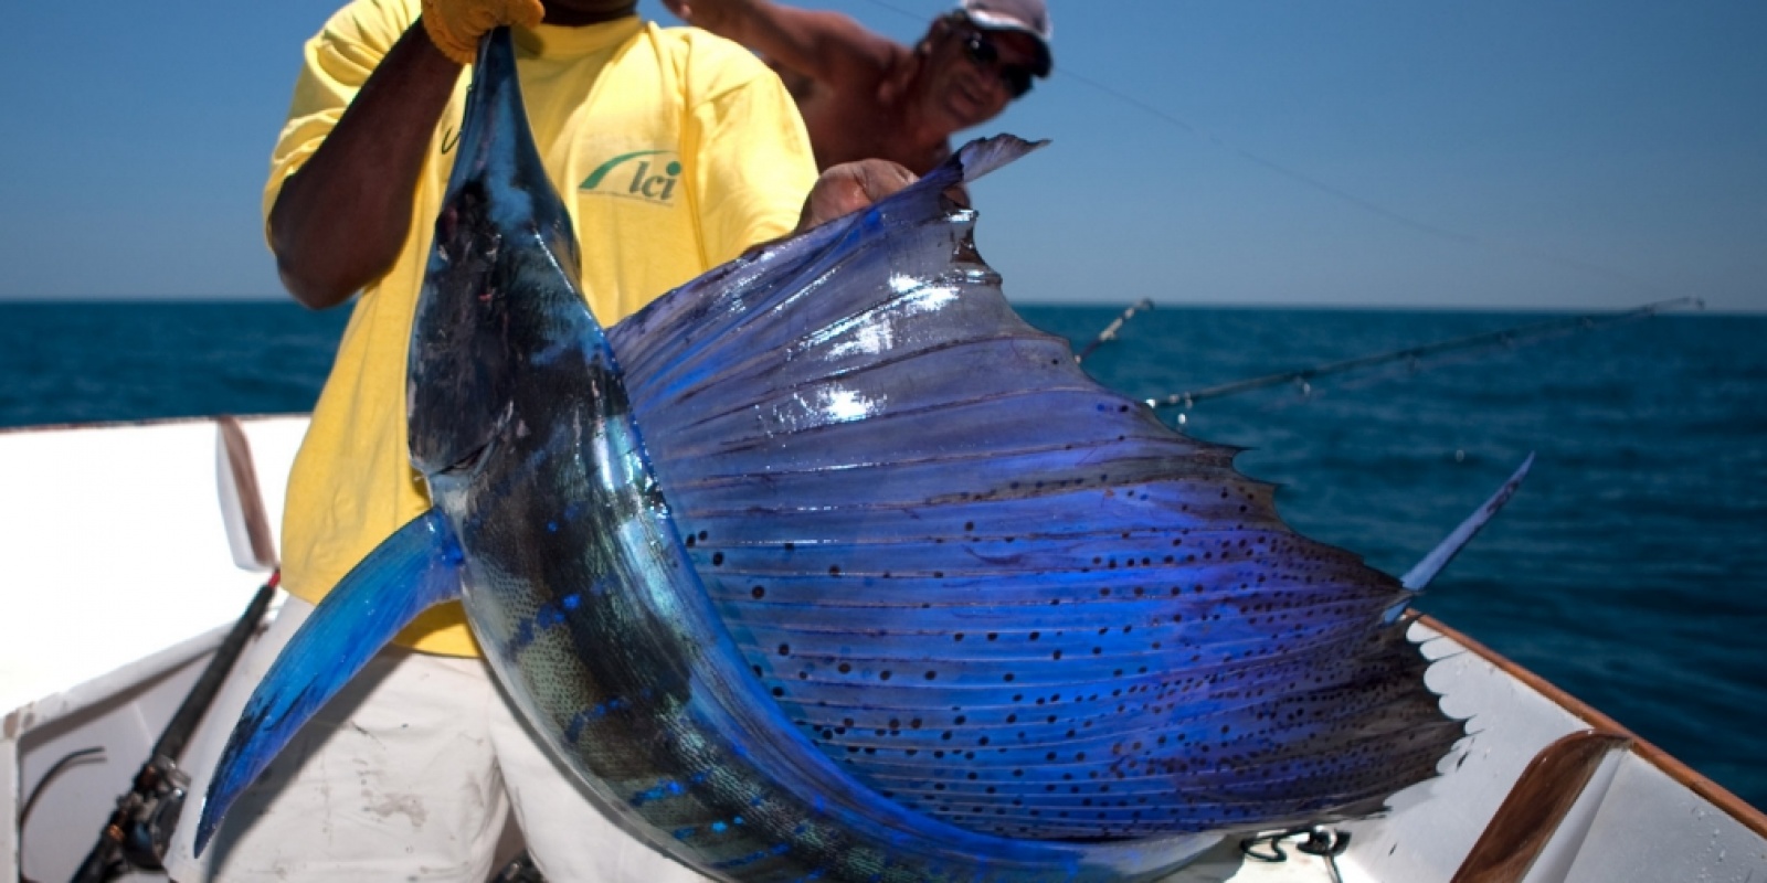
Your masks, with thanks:
<instances>
[{"instance_id":1,"label":"thin fishing line slanting down across the blue sky","mask_svg":"<svg viewBox=\"0 0 1767 883\"><path fill-rule=\"evenodd\" d=\"M891 12L896 12L898 16L903 16L903 18L912 18L912 19L921 19L921 21L928 21L929 19L929 16L926 16L926 14L910 12L910 11L906 11L906 9L899 7L899 5L889 4L885 0L864 0L864 2L871 4L871 5L878 7L878 9L887 9ZM1221 138L1219 134L1214 134L1212 131L1203 129L1202 125L1196 125L1196 124L1193 124L1193 122L1189 122L1189 120L1186 120L1182 117L1177 117L1177 115L1173 115L1173 113L1170 113L1170 111L1166 111L1163 108L1149 104L1147 101L1141 101L1140 97L1134 97L1134 95L1131 95L1131 94L1127 94L1127 92L1124 92L1120 88L1115 88L1115 87L1104 85L1104 83L1101 83L1097 79L1092 79L1088 76L1083 76L1083 74L1076 72L1066 62L1060 67L1057 67L1055 71L1051 71L1050 78L1051 79L1053 78L1071 79L1071 81L1080 83L1080 85L1083 85L1087 88L1092 88L1094 92L1101 92L1104 95L1110 95L1110 97L1113 97L1113 99L1117 99L1117 101L1120 101L1120 102L1124 102L1124 104L1127 104L1127 106L1131 106L1131 108L1134 108L1134 109L1138 109L1141 113L1147 113L1149 117L1154 117L1154 118L1157 118L1157 120L1161 120L1164 124L1175 125L1175 127L1182 129L1184 132L1187 132L1191 136L1196 136L1196 138L1200 138L1200 140L1214 145L1219 150L1233 154L1233 155L1237 155L1237 157L1244 159L1246 162L1251 162L1251 164L1255 164L1258 168L1263 168L1265 171L1281 175L1281 177L1285 177L1285 178L1288 178L1288 180L1292 180L1295 184L1301 184L1304 187L1309 187L1309 189L1315 189L1318 192L1323 192L1325 196L1331 196L1331 198L1334 198L1338 201L1354 205L1354 207L1357 207L1357 208L1361 208L1361 210L1364 210L1368 214L1373 214L1376 217L1382 217L1382 219L1385 219L1385 221L1389 221L1392 224L1398 224L1398 226L1403 226L1403 228L1410 228L1415 233L1422 233L1422 235L1428 235L1428 237L1442 238L1442 240L1447 240L1447 242L1456 242L1460 245L1472 245L1472 247L1477 247L1477 249L1486 249L1486 251L1491 251L1491 253L1507 253L1507 254L1514 254L1514 256L1523 256L1523 258L1537 260L1537 261L1543 261L1543 263L1555 263L1558 267L1566 267L1566 268L1571 268L1571 270L1585 272L1585 274L1590 274L1590 275L1599 275L1603 279L1608 279L1608 281L1613 281L1613 283L1624 283L1624 284L1634 286L1638 290L1657 293L1657 295L1666 293L1657 284L1645 283L1642 279L1627 275L1627 274L1624 274L1620 270L1615 270L1612 267L1603 267L1599 263L1590 263L1590 261L1585 261L1585 260L1569 258L1569 256L1555 254L1555 253L1550 253L1550 251L1532 249L1532 247L1518 245L1518 244L1513 244L1513 242L1490 240L1490 238L1484 238L1484 237L1475 237L1472 233L1461 233L1458 230L1449 230L1449 228L1444 228L1444 226L1430 224L1426 221L1417 221L1415 217L1399 214L1399 212L1396 212L1392 208L1387 208L1387 207L1384 207L1384 205L1380 205L1380 203L1376 203L1373 200L1366 200L1366 198L1357 196L1357 194L1354 194L1350 191L1345 191L1343 187L1338 187L1338 185L1332 185L1332 184L1323 182L1320 178L1315 178L1313 175L1308 175L1304 171L1283 166L1281 162L1270 161L1270 159L1267 159L1263 155L1253 154L1251 150L1246 150L1244 147L1239 147L1239 145L1228 141L1226 138Z\"/></svg>"}]
</instances>

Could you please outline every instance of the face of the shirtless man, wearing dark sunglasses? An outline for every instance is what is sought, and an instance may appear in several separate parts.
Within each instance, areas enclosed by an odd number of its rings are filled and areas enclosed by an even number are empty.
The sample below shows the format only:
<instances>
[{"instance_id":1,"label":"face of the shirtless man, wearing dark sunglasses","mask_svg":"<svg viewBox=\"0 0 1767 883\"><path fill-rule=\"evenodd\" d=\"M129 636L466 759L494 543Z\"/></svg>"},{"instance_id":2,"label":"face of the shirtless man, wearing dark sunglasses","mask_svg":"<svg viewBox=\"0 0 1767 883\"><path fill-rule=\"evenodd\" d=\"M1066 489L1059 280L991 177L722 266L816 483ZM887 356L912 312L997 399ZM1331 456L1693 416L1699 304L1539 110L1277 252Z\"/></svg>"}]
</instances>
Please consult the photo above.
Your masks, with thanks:
<instances>
[{"instance_id":1,"label":"face of the shirtless man, wearing dark sunglasses","mask_svg":"<svg viewBox=\"0 0 1767 883\"><path fill-rule=\"evenodd\" d=\"M1035 60L1037 41L1028 34L958 21L931 46L929 109L952 132L981 125L1030 88Z\"/></svg>"}]
</instances>

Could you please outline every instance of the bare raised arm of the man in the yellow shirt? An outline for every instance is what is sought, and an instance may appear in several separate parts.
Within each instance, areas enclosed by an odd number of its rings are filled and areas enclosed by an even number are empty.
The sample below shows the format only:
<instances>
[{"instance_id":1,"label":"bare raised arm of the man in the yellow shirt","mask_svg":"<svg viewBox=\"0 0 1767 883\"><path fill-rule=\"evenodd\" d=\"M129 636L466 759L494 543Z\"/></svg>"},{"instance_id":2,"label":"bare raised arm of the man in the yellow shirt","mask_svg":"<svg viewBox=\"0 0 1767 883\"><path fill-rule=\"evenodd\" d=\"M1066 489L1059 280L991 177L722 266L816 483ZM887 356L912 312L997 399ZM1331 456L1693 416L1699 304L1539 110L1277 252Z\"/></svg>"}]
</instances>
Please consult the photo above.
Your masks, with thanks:
<instances>
[{"instance_id":1,"label":"bare raised arm of the man in the yellow shirt","mask_svg":"<svg viewBox=\"0 0 1767 883\"><path fill-rule=\"evenodd\" d=\"M385 274L412 226L412 192L459 65L412 25L270 208L270 251L300 304L341 304ZM348 210L337 210L348 207Z\"/></svg>"}]
</instances>

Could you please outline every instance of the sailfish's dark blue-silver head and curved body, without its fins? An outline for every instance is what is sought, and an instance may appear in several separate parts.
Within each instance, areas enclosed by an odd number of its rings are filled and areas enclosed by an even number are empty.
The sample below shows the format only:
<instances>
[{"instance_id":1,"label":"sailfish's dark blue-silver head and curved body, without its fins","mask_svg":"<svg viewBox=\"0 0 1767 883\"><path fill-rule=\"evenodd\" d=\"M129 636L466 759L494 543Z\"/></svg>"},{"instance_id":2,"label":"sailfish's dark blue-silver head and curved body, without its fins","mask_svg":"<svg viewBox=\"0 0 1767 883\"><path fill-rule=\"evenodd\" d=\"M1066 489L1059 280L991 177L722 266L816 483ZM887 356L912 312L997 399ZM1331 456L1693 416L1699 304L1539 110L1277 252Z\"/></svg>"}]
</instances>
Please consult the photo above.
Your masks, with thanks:
<instances>
[{"instance_id":1,"label":"sailfish's dark blue-silver head and curved body, without its fins","mask_svg":"<svg viewBox=\"0 0 1767 883\"><path fill-rule=\"evenodd\" d=\"M412 461L459 539L488 664L592 804L691 867L755 883L1154 879L1217 841L954 828L799 735L687 558L560 249L564 217L527 140L511 39L493 32L412 328Z\"/></svg>"}]
</instances>

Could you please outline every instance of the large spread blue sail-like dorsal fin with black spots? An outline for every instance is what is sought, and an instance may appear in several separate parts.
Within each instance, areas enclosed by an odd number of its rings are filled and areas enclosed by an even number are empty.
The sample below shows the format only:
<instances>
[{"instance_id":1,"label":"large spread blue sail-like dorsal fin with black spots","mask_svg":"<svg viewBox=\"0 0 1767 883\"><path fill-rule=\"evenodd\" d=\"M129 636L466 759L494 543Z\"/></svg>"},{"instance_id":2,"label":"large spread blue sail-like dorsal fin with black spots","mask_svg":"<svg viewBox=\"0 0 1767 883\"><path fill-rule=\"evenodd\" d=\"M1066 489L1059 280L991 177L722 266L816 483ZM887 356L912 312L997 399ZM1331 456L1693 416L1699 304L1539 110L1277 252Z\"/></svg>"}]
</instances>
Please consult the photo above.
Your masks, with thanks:
<instances>
[{"instance_id":1,"label":"large spread blue sail-like dorsal fin with black spots","mask_svg":"<svg viewBox=\"0 0 1767 883\"><path fill-rule=\"evenodd\" d=\"M1012 313L952 187L1035 147L975 141L610 330L719 616L839 768L979 834L1380 809L1463 735L1385 622L1410 592Z\"/></svg>"}]
</instances>

